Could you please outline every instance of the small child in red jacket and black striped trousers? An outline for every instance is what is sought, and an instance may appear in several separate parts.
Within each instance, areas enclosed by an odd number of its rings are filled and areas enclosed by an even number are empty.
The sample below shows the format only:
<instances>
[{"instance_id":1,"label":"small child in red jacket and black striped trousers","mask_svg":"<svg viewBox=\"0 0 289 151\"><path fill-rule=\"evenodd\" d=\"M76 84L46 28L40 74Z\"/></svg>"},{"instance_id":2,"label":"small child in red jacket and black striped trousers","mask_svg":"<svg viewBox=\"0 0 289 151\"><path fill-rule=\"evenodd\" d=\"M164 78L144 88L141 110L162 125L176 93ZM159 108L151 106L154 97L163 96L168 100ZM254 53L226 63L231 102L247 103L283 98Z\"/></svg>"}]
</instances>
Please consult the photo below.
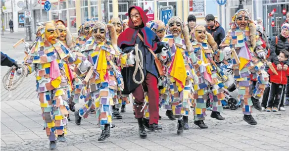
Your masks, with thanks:
<instances>
[{"instance_id":1,"label":"small child in red jacket and black striped trousers","mask_svg":"<svg viewBox=\"0 0 289 151\"><path fill-rule=\"evenodd\" d=\"M278 60L280 64L284 65L284 61L288 60L289 52L287 50L281 50L278 55ZM271 107L273 112L277 112L280 106L281 99L285 97L285 89L287 84L287 76L289 76L289 68L284 70L277 70L275 63L272 63L278 75L274 74L271 69L268 70L270 74L271 88L269 93L269 99L267 101L267 112L271 112Z\"/></svg>"}]
</instances>

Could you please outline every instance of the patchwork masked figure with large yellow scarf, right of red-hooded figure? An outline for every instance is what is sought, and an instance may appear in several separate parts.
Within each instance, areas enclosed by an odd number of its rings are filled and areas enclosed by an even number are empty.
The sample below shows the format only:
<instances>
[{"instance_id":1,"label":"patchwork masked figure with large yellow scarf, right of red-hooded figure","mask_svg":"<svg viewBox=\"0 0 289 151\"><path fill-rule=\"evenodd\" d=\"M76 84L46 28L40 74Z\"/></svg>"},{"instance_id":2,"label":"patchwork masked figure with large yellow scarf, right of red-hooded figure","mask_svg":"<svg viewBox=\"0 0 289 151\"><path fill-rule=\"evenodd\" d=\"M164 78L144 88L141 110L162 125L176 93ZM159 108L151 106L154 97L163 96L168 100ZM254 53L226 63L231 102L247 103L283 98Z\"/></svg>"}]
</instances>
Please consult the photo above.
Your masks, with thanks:
<instances>
[{"instance_id":1,"label":"patchwork masked figure with large yellow scarf, right of red-hooded figure","mask_svg":"<svg viewBox=\"0 0 289 151\"><path fill-rule=\"evenodd\" d=\"M184 128L189 129L188 116L193 99L193 79L196 77L190 60L193 48L189 28L178 16L171 17L167 27L167 36L162 42L167 43L170 49L160 53L160 60L167 63L168 84L164 89L168 89L170 94L164 95L167 98L163 98L163 101L166 107L171 107L175 118L178 118L177 134L182 134Z\"/></svg>"}]
</instances>

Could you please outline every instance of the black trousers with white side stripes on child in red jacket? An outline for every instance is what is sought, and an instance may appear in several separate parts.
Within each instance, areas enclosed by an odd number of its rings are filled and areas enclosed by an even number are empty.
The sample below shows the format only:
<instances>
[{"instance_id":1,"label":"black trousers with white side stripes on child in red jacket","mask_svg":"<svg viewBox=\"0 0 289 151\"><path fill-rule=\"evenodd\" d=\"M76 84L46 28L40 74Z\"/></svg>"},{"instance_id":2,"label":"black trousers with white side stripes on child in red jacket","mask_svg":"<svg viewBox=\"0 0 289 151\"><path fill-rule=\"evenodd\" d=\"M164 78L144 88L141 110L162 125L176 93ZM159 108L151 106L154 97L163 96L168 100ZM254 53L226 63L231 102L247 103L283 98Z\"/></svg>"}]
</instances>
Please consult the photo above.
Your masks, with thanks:
<instances>
[{"instance_id":1,"label":"black trousers with white side stripes on child in red jacket","mask_svg":"<svg viewBox=\"0 0 289 151\"><path fill-rule=\"evenodd\" d=\"M272 83L267 101L267 107L281 106L281 100L284 100L286 85Z\"/></svg>"}]
</instances>

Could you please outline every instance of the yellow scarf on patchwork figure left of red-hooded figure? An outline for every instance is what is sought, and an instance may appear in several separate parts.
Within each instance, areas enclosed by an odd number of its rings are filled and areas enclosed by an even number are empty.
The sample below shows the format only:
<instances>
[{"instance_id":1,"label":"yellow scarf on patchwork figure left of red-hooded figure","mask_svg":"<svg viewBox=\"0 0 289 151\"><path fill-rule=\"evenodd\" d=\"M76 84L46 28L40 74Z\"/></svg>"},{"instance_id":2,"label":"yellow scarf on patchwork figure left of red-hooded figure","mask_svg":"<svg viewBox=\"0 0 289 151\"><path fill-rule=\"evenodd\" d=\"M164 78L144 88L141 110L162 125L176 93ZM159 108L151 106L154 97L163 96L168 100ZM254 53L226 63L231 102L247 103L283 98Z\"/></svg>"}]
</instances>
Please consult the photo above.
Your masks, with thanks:
<instances>
[{"instance_id":1,"label":"yellow scarf on patchwork figure left of red-hooded figure","mask_svg":"<svg viewBox=\"0 0 289 151\"><path fill-rule=\"evenodd\" d=\"M106 74L107 70L107 61L105 56L105 50L100 50L100 53L98 55L98 62L97 62L97 68L96 71L99 73L99 78L101 82L104 82L104 75Z\"/></svg>"}]
</instances>

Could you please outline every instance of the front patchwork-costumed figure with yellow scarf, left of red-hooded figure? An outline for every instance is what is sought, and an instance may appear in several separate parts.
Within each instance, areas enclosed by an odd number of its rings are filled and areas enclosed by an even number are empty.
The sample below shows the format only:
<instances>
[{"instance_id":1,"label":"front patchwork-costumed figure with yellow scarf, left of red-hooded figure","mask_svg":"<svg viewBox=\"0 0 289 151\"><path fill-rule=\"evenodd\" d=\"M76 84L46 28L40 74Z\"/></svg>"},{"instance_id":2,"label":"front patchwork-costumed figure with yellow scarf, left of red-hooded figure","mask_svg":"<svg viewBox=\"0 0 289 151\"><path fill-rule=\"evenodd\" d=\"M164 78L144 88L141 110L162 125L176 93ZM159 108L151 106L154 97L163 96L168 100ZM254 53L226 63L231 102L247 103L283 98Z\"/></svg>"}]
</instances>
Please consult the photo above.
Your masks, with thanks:
<instances>
[{"instance_id":1,"label":"front patchwork-costumed figure with yellow scarf, left of red-hooded figure","mask_svg":"<svg viewBox=\"0 0 289 151\"><path fill-rule=\"evenodd\" d=\"M82 118L87 118L91 109L96 110L96 117L102 133L98 141L110 136L112 122L112 106L118 104L117 92L123 90L123 80L119 68L113 62L119 55L117 38L112 24L96 22L92 29L92 37L83 45L81 52L88 58L77 73L80 77L89 76L93 70L86 93L85 105L75 112L75 122L80 125Z\"/></svg>"}]
</instances>

